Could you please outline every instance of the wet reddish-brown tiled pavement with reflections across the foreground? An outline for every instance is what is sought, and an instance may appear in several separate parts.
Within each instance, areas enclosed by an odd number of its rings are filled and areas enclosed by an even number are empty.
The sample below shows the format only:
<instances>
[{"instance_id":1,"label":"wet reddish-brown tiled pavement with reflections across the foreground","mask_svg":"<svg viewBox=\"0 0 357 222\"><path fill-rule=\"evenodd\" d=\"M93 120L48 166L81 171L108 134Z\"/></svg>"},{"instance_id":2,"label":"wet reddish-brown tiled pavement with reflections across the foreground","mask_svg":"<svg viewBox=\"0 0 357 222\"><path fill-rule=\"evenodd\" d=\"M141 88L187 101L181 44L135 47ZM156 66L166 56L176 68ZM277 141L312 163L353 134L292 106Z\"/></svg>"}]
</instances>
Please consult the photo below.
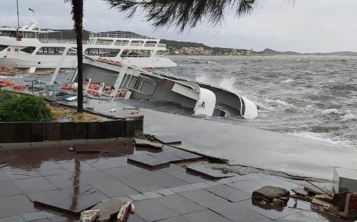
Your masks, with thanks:
<instances>
[{"instance_id":1,"label":"wet reddish-brown tiled pavement with reflections across the foreground","mask_svg":"<svg viewBox=\"0 0 357 222\"><path fill-rule=\"evenodd\" d=\"M210 180L170 163L194 154L164 146L134 147L134 141L87 144L101 153L79 154L66 146L0 151L0 222L79 221L78 214L102 200L135 201L133 221L354 221L320 212L290 198L285 208L251 199L265 185L296 187L265 175L229 175ZM146 168L127 161L158 157L168 165ZM187 162L193 163L193 162ZM202 172L200 172L202 171ZM214 172L213 172L214 173ZM217 175L215 173L215 175ZM226 175L223 175L223 177Z\"/></svg>"}]
</instances>

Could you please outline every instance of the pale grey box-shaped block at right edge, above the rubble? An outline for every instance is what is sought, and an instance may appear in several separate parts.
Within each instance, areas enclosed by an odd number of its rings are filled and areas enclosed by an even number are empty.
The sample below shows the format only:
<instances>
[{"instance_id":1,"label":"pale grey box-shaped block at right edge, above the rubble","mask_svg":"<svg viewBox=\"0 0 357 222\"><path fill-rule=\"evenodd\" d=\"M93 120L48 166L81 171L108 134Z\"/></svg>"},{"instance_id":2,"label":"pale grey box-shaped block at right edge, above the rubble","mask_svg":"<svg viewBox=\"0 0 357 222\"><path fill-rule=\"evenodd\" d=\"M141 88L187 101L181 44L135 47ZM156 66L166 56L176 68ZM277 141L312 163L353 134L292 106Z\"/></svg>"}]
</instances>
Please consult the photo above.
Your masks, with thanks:
<instances>
[{"instance_id":1,"label":"pale grey box-shaped block at right edge, above the rubble","mask_svg":"<svg viewBox=\"0 0 357 222\"><path fill-rule=\"evenodd\" d=\"M357 171L346 168L335 168L334 188L336 193L357 192Z\"/></svg>"}]
</instances>

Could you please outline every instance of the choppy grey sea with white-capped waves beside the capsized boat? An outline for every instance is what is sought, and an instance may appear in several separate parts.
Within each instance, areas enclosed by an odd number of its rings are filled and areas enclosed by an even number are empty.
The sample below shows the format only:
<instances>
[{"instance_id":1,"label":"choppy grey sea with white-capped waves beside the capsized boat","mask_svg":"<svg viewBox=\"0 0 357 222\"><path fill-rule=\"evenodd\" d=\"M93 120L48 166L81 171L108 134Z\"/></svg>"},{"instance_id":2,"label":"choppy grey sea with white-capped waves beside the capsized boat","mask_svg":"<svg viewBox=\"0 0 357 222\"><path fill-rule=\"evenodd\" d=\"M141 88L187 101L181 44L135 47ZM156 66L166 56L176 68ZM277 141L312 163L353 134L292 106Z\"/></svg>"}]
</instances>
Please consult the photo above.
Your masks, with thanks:
<instances>
[{"instance_id":1,"label":"choppy grey sea with white-capped waves beside the capsized boat","mask_svg":"<svg viewBox=\"0 0 357 222\"><path fill-rule=\"evenodd\" d=\"M266 109L255 119L199 117L357 148L357 57L171 56L160 70L232 90ZM171 103L131 105L191 115Z\"/></svg>"}]
</instances>

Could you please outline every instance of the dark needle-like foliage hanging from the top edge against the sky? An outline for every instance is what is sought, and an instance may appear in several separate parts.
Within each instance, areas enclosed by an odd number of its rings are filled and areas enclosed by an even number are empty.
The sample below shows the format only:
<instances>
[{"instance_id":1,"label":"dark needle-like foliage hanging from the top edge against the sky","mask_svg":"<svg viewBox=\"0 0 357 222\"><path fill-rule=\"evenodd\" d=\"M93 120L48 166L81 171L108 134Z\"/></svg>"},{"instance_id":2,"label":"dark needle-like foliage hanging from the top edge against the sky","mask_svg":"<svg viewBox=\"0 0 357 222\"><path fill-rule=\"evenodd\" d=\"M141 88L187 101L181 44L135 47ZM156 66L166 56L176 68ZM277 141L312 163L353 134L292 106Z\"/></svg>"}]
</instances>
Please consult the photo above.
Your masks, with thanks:
<instances>
[{"instance_id":1,"label":"dark needle-like foliage hanging from the top edge against the sky","mask_svg":"<svg viewBox=\"0 0 357 222\"><path fill-rule=\"evenodd\" d=\"M217 26L225 12L234 10L236 17L249 14L258 0L103 0L110 8L125 12L127 18L142 13L155 28L176 26L179 31L207 23Z\"/></svg>"}]
</instances>

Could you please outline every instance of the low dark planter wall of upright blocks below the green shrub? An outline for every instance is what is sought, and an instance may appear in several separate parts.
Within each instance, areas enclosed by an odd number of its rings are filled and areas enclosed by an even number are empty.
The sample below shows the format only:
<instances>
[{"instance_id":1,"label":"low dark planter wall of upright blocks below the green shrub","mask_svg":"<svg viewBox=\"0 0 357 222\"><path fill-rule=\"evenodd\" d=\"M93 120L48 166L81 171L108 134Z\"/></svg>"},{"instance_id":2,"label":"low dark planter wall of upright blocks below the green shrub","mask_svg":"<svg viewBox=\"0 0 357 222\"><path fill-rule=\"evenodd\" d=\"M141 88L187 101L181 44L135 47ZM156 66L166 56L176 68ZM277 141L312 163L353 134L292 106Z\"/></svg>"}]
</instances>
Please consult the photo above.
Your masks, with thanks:
<instances>
[{"instance_id":1,"label":"low dark planter wall of upright blocks below the green shrub","mask_svg":"<svg viewBox=\"0 0 357 222\"><path fill-rule=\"evenodd\" d=\"M143 132L143 116L102 122L0 122L0 143L134 137Z\"/></svg>"}]
</instances>

